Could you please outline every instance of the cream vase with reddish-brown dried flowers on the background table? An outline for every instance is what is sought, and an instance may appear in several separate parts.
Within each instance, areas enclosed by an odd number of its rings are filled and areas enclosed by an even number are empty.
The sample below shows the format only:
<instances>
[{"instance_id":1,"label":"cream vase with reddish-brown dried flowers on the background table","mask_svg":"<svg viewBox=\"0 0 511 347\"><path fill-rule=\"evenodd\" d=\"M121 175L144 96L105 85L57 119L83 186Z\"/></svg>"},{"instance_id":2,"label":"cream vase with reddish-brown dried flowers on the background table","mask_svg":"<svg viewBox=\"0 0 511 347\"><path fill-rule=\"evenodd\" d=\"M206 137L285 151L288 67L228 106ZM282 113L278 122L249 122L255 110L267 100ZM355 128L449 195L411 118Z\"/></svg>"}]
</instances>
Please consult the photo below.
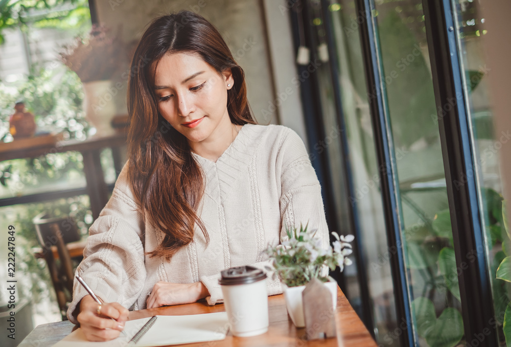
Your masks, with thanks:
<instances>
[{"instance_id":1,"label":"cream vase with reddish-brown dried flowers on the background table","mask_svg":"<svg viewBox=\"0 0 511 347\"><path fill-rule=\"evenodd\" d=\"M119 88L112 85L112 77L128 57L120 36L110 32L103 25L93 25L86 38L77 37L60 53L61 61L82 81L85 116L98 136L114 133L110 122L115 116L114 96Z\"/></svg>"}]
</instances>

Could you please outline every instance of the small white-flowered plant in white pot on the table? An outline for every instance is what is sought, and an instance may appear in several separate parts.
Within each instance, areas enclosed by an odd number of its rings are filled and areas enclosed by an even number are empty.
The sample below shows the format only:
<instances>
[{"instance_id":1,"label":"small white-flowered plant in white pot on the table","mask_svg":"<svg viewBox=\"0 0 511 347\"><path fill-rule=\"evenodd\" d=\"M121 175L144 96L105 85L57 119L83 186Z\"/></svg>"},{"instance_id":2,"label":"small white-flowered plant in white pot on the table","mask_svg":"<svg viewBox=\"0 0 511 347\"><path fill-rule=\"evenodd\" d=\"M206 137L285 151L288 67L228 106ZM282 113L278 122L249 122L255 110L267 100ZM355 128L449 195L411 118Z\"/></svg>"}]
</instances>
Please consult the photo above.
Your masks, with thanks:
<instances>
[{"instance_id":1,"label":"small white-flowered plant in white pot on the table","mask_svg":"<svg viewBox=\"0 0 511 347\"><path fill-rule=\"evenodd\" d=\"M286 233L289 240L266 248L273 264L273 268L267 267L267 270L280 279L288 313L294 325L301 328L305 327L302 292L312 278L317 278L330 289L333 308L337 307L337 282L326 270L334 270L339 266L342 271L344 265L352 264L346 256L352 253L349 242L352 242L354 237L339 236L333 232L336 241L333 242L333 247L325 249L320 240L307 232L307 226L300 226L299 230L296 227L292 230L286 227Z\"/></svg>"}]
</instances>

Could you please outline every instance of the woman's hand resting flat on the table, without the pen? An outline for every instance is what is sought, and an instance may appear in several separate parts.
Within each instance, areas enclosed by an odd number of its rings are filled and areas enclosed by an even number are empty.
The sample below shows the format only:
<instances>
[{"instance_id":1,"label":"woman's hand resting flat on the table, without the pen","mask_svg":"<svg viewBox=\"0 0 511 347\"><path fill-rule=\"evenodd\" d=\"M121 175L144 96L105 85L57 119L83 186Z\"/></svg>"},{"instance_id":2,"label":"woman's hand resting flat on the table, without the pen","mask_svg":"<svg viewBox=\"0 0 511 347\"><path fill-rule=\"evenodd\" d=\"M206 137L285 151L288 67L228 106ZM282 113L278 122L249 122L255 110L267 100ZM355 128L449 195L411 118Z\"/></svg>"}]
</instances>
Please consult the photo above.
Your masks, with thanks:
<instances>
[{"instance_id":1,"label":"woman's hand resting flat on the table, without the pen","mask_svg":"<svg viewBox=\"0 0 511 347\"><path fill-rule=\"evenodd\" d=\"M147 298L147 308L195 303L208 295L210 292L202 282L187 284L158 282Z\"/></svg>"}]
</instances>

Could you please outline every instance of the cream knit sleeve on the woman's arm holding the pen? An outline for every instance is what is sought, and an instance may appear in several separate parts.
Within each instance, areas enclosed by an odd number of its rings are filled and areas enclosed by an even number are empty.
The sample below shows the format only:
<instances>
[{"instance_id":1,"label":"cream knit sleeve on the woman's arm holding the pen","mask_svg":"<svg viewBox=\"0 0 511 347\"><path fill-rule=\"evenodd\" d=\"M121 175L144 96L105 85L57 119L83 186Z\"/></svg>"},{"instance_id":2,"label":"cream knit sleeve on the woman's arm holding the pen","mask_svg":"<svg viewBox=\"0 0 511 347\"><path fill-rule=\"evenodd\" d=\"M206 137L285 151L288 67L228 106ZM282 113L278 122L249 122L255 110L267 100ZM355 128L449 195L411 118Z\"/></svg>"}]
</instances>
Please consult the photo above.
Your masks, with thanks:
<instances>
[{"instance_id":1,"label":"cream knit sleeve on the woman's arm holding the pen","mask_svg":"<svg viewBox=\"0 0 511 347\"><path fill-rule=\"evenodd\" d=\"M76 273L104 302L131 307L140 295L144 266L144 223L127 183L127 165L100 216L89 229L84 259ZM75 279L67 318L77 323L77 306L87 291Z\"/></svg>"}]
</instances>

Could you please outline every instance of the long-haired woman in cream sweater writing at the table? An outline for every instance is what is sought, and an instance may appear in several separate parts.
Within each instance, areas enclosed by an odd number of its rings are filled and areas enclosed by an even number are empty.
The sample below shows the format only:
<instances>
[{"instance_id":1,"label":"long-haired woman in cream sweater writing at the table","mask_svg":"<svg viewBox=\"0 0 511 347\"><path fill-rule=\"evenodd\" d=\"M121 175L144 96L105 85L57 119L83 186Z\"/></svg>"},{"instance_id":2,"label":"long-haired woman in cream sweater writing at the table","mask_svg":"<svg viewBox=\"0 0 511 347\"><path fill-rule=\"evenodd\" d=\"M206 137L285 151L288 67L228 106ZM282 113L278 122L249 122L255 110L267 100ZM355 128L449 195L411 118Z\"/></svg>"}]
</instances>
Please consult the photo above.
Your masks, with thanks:
<instances>
[{"instance_id":1,"label":"long-haired woman in cream sweater writing at the table","mask_svg":"<svg viewBox=\"0 0 511 347\"><path fill-rule=\"evenodd\" d=\"M220 271L269 265L263 250L286 225L309 223L328 246L304 143L255 124L243 70L203 17L152 22L131 62L128 111L129 160L77 270L105 304L75 282L67 313L89 340L117 337L128 307L222 302Z\"/></svg>"}]
</instances>

